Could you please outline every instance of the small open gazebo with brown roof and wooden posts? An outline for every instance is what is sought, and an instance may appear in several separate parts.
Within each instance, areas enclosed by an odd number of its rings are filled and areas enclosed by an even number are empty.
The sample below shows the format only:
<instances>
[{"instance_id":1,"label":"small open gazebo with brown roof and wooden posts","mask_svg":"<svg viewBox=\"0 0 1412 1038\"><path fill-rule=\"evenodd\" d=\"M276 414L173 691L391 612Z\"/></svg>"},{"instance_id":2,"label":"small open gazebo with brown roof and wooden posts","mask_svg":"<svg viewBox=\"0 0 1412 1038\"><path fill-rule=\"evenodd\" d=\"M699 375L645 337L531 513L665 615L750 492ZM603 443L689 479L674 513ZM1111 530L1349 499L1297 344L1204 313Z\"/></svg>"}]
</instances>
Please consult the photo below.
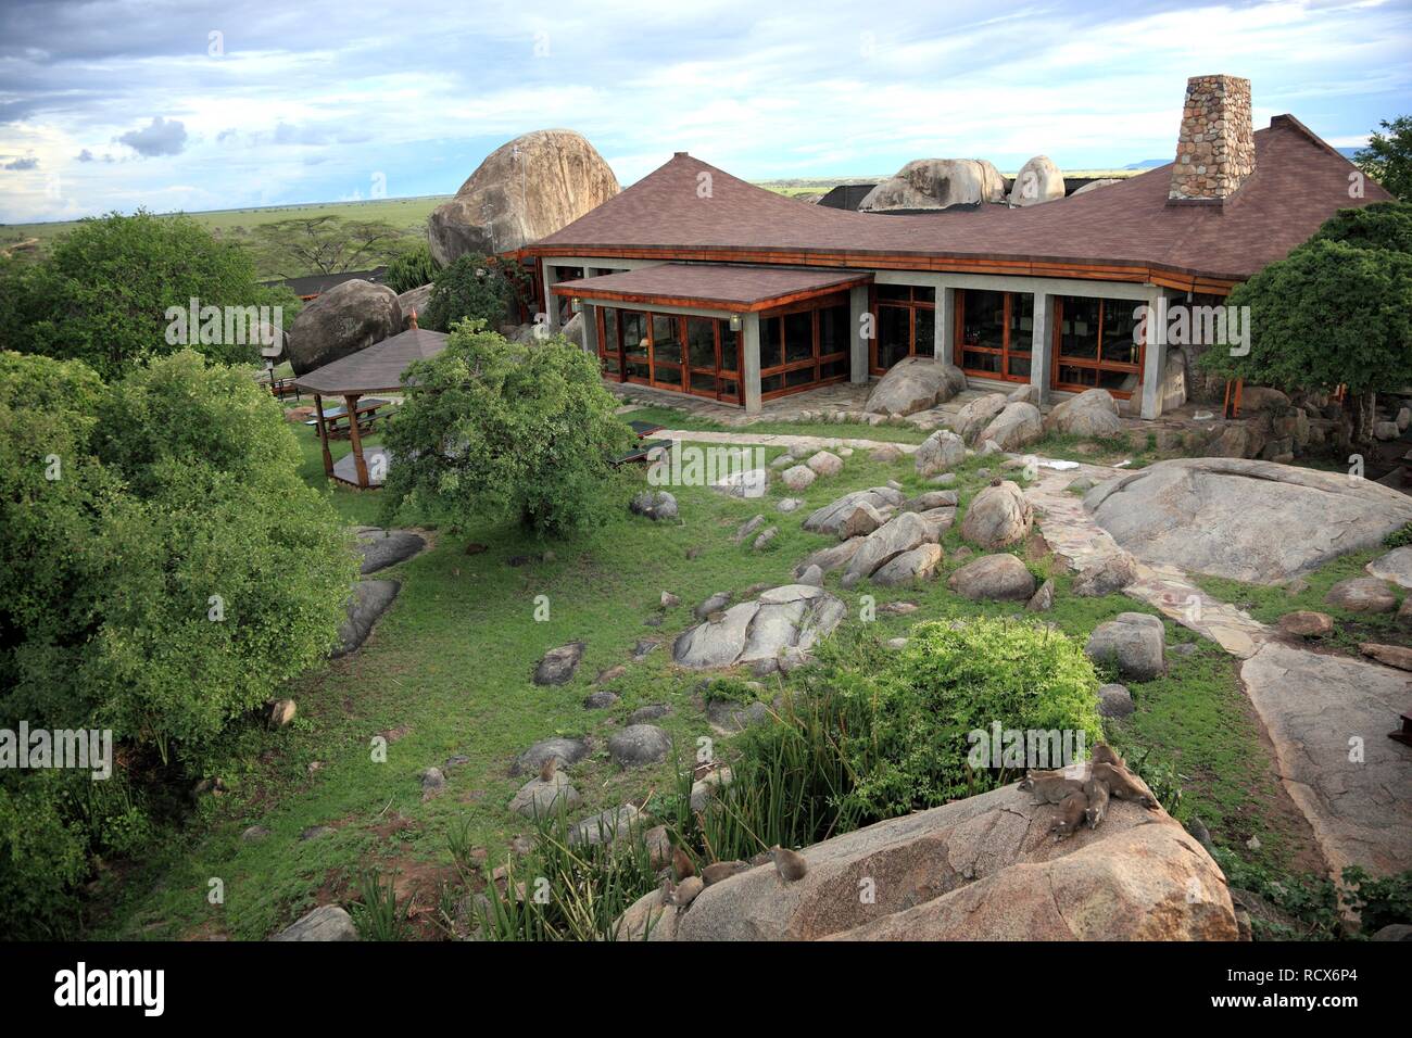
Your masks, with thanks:
<instances>
[{"instance_id":1,"label":"small open gazebo with brown roof and wooden posts","mask_svg":"<svg viewBox=\"0 0 1412 1038\"><path fill-rule=\"evenodd\" d=\"M364 398L376 393L402 391L407 386L407 369L414 362L433 357L443 349L446 349L443 333L412 326L298 377L295 384L313 395L313 415L323 449L323 472L329 479L360 490L383 486L391 456L381 446L364 451L360 428L367 412ZM325 397L342 398L343 414L347 417L349 442L353 451L337 462L329 451L333 415L323 410Z\"/></svg>"}]
</instances>

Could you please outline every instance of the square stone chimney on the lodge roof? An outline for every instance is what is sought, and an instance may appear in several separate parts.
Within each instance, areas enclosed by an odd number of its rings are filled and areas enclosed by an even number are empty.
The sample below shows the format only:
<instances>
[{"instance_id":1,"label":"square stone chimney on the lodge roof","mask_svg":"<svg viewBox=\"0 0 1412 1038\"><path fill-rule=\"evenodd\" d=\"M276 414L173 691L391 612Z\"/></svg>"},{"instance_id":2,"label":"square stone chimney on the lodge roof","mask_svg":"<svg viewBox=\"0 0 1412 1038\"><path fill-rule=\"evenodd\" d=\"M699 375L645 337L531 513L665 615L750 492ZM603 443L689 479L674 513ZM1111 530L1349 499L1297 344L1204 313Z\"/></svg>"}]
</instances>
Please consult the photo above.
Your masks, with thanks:
<instances>
[{"instance_id":1,"label":"square stone chimney on the lodge roof","mask_svg":"<svg viewBox=\"0 0 1412 1038\"><path fill-rule=\"evenodd\" d=\"M1234 195L1254 171L1250 80L1236 76L1187 79L1168 201L1219 203Z\"/></svg>"}]
</instances>

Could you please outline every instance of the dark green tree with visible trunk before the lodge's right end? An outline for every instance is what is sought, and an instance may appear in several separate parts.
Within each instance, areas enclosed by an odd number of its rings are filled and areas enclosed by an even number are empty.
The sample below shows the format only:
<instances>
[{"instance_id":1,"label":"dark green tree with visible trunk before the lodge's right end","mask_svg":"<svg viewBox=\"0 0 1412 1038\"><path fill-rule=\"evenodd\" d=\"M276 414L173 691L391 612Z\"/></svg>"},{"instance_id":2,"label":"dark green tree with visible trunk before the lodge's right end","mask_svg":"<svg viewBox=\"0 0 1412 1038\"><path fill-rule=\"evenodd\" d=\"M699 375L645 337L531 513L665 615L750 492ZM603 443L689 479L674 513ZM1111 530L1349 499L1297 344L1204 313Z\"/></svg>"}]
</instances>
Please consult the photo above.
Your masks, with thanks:
<instances>
[{"instance_id":1,"label":"dark green tree with visible trunk before the lodge's right end","mask_svg":"<svg viewBox=\"0 0 1412 1038\"><path fill-rule=\"evenodd\" d=\"M1247 356L1207 350L1213 374L1282 390L1348 390L1354 439L1372 434L1377 394L1412 383L1412 253L1406 206L1341 212L1310 241L1230 294L1250 306ZM1384 244L1380 247L1380 241Z\"/></svg>"}]
</instances>

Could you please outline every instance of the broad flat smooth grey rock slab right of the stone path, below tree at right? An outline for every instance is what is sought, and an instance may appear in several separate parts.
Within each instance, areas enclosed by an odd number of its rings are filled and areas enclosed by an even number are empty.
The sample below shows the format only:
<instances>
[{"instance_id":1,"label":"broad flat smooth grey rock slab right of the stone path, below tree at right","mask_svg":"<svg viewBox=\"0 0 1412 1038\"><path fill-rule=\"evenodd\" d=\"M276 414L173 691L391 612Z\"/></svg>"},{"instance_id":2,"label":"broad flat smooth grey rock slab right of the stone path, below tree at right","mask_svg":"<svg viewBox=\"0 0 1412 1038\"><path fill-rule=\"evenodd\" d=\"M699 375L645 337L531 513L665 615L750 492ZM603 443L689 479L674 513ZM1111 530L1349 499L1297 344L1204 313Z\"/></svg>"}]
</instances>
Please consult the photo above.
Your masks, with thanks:
<instances>
[{"instance_id":1,"label":"broad flat smooth grey rock slab right of the stone path, below tree at right","mask_svg":"<svg viewBox=\"0 0 1412 1038\"><path fill-rule=\"evenodd\" d=\"M1238 458L1180 458L1100 483L1094 520L1144 562L1274 583L1412 521L1412 499L1372 480Z\"/></svg>"}]
</instances>

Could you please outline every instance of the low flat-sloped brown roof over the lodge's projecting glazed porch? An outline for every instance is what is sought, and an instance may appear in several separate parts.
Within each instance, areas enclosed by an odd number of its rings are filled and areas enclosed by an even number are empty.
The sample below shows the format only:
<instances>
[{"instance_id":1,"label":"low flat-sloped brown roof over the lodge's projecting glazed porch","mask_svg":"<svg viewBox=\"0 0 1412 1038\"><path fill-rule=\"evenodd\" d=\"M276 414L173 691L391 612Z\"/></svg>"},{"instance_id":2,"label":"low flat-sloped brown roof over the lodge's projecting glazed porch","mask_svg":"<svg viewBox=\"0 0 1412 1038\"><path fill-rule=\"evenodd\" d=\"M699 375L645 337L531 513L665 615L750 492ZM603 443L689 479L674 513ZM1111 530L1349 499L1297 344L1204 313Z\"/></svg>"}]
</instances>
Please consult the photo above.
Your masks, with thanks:
<instances>
[{"instance_id":1,"label":"low flat-sloped brown roof over the lodge's projecting glazed porch","mask_svg":"<svg viewBox=\"0 0 1412 1038\"><path fill-rule=\"evenodd\" d=\"M672 301L727 311L760 311L871 280L870 271L856 270L662 263L620 274L561 281L554 291L556 295L614 302Z\"/></svg>"}]
</instances>

